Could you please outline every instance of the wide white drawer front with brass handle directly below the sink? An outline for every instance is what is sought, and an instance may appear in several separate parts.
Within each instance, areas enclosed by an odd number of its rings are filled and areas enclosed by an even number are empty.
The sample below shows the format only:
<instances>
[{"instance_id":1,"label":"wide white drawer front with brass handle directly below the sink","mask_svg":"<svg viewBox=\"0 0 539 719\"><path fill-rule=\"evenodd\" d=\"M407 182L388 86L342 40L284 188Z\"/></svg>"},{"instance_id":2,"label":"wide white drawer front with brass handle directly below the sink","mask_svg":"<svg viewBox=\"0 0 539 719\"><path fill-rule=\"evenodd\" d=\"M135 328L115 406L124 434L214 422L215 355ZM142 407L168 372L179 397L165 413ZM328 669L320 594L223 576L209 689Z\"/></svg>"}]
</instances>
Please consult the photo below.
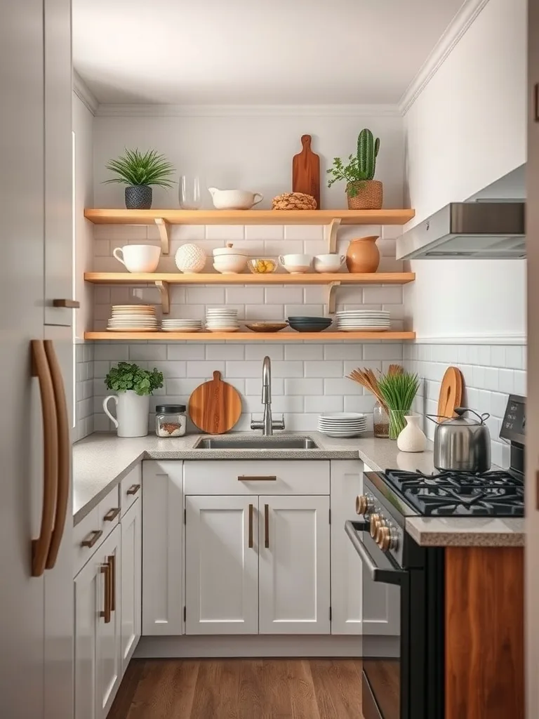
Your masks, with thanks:
<instances>
[{"instance_id":1,"label":"wide white drawer front with brass handle directly below the sink","mask_svg":"<svg viewBox=\"0 0 539 719\"><path fill-rule=\"evenodd\" d=\"M304 459L183 463L186 495L329 494L329 462Z\"/></svg>"}]
</instances>

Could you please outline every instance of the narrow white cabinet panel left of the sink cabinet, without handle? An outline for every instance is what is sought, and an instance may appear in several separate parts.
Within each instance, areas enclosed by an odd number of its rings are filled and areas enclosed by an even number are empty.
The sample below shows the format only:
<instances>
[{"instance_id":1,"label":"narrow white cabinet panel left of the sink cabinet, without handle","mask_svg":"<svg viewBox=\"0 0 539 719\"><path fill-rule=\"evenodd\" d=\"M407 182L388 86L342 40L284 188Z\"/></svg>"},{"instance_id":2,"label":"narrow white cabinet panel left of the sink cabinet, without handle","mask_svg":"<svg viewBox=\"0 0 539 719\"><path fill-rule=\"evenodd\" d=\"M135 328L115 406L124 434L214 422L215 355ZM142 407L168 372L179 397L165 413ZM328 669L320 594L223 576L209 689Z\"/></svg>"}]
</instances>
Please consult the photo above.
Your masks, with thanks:
<instances>
[{"instance_id":1,"label":"narrow white cabinet panel left of the sink cabinet, without handle","mask_svg":"<svg viewBox=\"0 0 539 719\"><path fill-rule=\"evenodd\" d=\"M142 462L142 634L183 633L183 462Z\"/></svg>"}]
</instances>

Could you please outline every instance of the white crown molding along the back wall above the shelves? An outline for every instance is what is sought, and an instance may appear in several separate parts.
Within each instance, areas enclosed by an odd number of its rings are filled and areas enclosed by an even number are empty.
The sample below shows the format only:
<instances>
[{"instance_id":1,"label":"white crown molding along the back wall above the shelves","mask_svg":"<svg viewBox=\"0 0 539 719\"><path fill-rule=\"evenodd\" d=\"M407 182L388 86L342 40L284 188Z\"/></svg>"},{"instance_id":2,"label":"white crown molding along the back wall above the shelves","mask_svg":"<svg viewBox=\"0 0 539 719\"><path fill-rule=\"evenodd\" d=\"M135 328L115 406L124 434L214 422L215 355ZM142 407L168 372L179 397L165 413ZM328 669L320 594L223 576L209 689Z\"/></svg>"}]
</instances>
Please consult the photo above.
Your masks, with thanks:
<instances>
[{"instance_id":1,"label":"white crown molding along the back wall above the shelves","mask_svg":"<svg viewBox=\"0 0 539 719\"><path fill-rule=\"evenodd\" d=\"M98 117L400 117L397 105L99 104Z\"/></svg>"}]
</instances>

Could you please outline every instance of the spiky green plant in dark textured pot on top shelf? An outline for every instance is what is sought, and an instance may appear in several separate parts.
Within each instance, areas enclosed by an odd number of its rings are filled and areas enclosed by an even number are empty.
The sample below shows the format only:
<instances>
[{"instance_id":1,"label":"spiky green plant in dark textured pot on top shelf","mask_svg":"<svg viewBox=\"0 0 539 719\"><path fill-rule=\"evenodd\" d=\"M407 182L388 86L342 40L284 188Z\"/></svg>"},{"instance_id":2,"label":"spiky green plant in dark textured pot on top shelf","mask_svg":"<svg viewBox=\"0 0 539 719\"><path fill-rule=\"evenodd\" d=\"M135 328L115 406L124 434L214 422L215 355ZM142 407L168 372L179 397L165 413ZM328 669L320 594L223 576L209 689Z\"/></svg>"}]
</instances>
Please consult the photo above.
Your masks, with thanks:
<instances>
[{"instance_id":1,"label":"spiky green plant in dark textured pot on top shelf","mask_svg":"<svg viewBox=\"0 0 539 719\"><path fill-rule=\"evenodd\" d=\"M125 206L128 210L149 210L152 206L152 185L171 188L175 180L170 175L175 169L156 150L140 152L125 150L116 160L110 160L106 169L115 173L116 177L105 180L108 183L120 183L126 185Z\"/></svg>"}]
</instances>

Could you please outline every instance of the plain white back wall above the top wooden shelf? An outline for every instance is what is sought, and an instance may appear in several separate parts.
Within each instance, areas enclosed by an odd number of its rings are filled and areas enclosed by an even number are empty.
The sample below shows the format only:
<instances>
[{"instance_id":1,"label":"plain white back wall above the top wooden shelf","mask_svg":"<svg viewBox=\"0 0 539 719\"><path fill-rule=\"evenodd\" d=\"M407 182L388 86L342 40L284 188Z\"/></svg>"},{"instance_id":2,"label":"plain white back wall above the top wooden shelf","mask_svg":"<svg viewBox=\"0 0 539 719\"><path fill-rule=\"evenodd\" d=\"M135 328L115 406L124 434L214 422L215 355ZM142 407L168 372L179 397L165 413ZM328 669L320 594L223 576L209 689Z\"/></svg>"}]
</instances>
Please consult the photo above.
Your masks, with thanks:
<instances>
[{"instance_id":1,"label":"plain white back wall above the top wooden shelf","mask_svg":"<svg viewBox=\"0 0 539 719\"><path fill-rule=\"evenodd\" d=\"M110 177L106 162L124 147L155 147L175 165L178 175L198 175L209 187L262 192L264 202L259 207L270 208L274 196L292 189L292 157L300 152L305 133L313 136L313 151L321 156L322 207L346 207L344 184L326 188L326 169L333 157L356 152L357 135L364 127L381 140L377 179L384 181L384 206L402 206L404 143L402 117L397 115L98 116L94 127L97 207L124 203L123 186L102 184ZM204 201L211 207L209 193L204 193ZM178 207L178 187L154 188L154 207Z\"/></svg>"}]
</instances>

